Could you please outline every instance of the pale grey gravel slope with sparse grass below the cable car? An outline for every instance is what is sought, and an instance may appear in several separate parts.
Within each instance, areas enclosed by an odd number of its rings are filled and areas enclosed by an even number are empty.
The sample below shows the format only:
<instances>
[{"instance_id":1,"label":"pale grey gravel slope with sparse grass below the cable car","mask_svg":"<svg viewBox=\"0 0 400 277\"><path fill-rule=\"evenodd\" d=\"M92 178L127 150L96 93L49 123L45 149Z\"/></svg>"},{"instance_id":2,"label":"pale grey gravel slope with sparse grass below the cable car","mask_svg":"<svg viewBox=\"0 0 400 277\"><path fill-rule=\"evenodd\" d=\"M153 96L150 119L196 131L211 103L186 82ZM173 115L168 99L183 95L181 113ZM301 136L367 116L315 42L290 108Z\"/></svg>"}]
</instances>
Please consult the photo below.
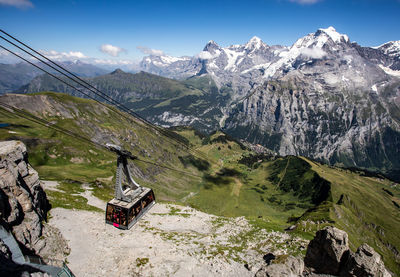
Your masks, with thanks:
<instances>
[{"instance_id":1,"label":"pale grey gravel slope with sparse grass below the cable car","mask_svg":"<svg viewBox=\"0 0 400 277\"><path fill-rule=\"evenodd\" d=\"M90 191L81 195L104 209L105 203ZM157 203L127 231L105 224L98 212L55 208L51 216L49 224L61 231L71 249L68 266L80 277L254 276L264 253L285 254L282 247L274 251L274 245L305 243L260 230L243 244L241 235L253 228L245 218L217 217L171 204ZM234 246L240 248L231 251Z\"/></svg>"}]
</instances>

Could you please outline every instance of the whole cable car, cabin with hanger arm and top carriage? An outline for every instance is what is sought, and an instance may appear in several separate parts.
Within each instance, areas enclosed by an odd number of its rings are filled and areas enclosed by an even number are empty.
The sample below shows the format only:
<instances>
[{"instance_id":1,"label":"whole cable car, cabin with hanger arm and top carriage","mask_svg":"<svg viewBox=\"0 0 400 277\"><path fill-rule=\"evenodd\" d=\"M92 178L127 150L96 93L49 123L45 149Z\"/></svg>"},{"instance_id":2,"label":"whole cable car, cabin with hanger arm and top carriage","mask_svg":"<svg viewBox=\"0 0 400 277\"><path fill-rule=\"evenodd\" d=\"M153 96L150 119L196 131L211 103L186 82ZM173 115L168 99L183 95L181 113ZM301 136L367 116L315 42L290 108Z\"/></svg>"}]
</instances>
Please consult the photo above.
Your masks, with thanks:
<instances>
[{"instance_id":1,"label":"whole cable car, cabin with hanger arm and top carriage","mask_svg":"<svg viewBox=\"0 0 400 277\"><path fill-rule=\"evenodd\" d=\"M115 197L107 203L106 223L128 230L154 206L156 199L151 188L140 186L132 178L128 159L135 160L137 157L114 144L107 143L106 147L118 155ZM122 187L123 174L127 179L126 189Z\"/></svg>"}]
</instances>

